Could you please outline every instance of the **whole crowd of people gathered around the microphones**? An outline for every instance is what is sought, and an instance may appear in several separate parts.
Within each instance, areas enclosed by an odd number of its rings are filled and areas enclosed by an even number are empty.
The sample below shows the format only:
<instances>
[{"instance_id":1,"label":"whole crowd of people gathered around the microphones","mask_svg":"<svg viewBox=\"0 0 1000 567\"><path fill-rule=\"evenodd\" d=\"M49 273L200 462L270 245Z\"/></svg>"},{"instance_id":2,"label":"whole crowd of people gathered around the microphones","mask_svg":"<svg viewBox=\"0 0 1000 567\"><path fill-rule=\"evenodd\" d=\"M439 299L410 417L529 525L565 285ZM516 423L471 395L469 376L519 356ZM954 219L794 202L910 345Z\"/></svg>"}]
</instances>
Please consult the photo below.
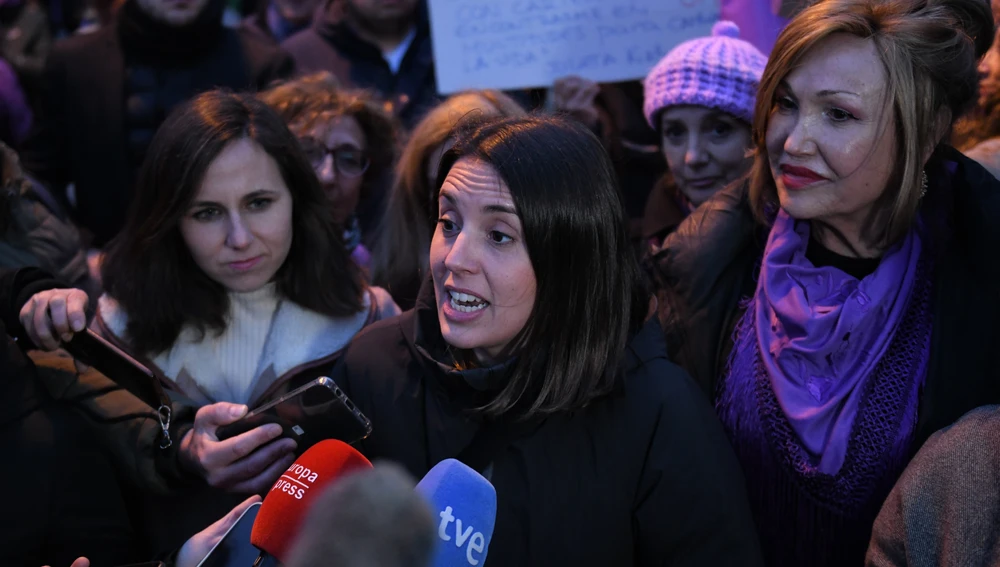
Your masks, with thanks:
<instances>
[{"instance_id":1,"label":"whole crowd of people gathered around the microphones","mask_svg":"<svg viewBox=\"0 0 1000 567\"><path fill-rule=\"evenodd\" d=\"M195 567L326 376L488 565L994 565L1000 5L763 4L451 96L423 0L0 5L0 564Z\"/></svg>"}]
</instances>

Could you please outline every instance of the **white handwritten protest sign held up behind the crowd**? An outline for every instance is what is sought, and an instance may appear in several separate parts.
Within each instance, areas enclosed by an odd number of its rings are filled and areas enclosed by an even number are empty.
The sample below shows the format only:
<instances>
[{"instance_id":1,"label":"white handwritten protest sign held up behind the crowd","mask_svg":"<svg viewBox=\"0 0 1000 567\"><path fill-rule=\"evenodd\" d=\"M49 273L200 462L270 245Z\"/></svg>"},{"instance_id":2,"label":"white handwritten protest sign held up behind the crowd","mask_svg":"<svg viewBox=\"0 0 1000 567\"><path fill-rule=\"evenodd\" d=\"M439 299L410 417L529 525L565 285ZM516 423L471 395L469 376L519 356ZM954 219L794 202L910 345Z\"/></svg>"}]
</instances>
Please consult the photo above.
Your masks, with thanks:
<instances>
[{"instance_id":1,"label":"white handwritten protest sign held up behind the crowd","mask_svg":"<svg viewBox=\"0 0 1000 567\"><path fill-rule=\"evenodd\" d=\"M442 94L639 79L711 33L719 0L430 0Z\"/></svg>"}]
</instances>

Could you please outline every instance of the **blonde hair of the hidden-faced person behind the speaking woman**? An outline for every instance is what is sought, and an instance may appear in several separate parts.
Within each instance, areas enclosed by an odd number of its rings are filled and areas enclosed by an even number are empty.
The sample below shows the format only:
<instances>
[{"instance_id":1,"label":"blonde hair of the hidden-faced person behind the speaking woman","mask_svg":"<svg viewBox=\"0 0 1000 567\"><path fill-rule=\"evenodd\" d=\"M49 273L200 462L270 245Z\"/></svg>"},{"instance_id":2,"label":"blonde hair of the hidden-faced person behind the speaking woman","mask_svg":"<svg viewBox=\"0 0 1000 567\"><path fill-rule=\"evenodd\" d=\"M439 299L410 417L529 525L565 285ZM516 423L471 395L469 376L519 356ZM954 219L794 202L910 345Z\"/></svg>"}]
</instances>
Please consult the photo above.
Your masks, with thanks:
<instances>
[{"instance_id":1,"label":"blonde hair of the hidden-faced person behind the speaking woman","mask_svg":"<svg viewBox=\"0 0 1000 567\"><path fill-rule=\"evenodd\" d=\"M445 100L414 128L396 165L396 180L377 231L372 280L391 293L426 273L437 216L437 187L427 180L428 159L467 117L519 117L525 110L497 91L470 91Z\"/></svg>"}]
</instances>

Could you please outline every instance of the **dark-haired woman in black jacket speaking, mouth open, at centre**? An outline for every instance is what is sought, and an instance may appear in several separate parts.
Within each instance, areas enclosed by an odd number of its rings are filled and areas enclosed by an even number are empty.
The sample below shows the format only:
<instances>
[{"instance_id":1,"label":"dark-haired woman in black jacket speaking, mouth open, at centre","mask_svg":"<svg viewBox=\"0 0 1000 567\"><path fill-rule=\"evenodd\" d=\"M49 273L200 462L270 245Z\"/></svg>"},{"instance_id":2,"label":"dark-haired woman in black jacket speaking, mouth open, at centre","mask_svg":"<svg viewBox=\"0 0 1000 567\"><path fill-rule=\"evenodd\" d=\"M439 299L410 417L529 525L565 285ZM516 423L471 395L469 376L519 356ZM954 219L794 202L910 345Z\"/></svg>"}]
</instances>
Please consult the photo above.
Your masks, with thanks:
<instances>
[{"instance_id":1,"label":"dark-haired woman in black jacket speaking, mouth open, at centre","mask_svg":"<svg viewBox=\"0 0 1000 567\"><path fill-rule=\"evenodd\" d=\"M486 476L493 566L759 565L739 465L667 360L600 142L556 118L465 130L416 306L335 373L375 425L362 452Z\"/></svg>"}]
</instances>

